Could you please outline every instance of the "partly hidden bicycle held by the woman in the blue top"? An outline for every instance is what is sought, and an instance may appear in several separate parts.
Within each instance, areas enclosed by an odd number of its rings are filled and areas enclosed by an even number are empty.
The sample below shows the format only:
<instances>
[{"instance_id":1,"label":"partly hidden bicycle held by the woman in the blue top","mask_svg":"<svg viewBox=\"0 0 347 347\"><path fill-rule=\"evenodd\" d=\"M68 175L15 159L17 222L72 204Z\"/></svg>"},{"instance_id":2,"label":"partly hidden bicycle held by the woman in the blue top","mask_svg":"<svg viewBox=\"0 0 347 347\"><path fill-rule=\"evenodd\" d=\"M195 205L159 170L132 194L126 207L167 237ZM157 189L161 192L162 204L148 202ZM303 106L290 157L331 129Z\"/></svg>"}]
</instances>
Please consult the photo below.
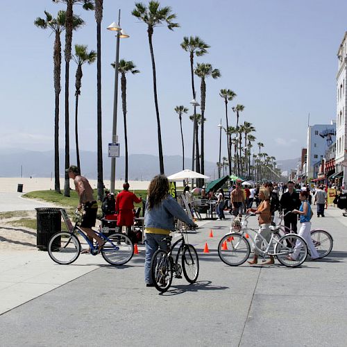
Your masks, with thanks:
<instances>
[{"instance_id":1,"label":"partly hidden bicycle held by the woman in the blue top","mask_svg":"<svg viewBox=\"0 0 347 347\"><path fill-rule=\"evenodd\" d=\"M286 214L280 214L280 223L278 223L278 225L276 226L280 227L279 230L282 232L283 235L295 233L293 230L291 230L283 224L285 216L287 216L287 214L289 213L291 213L291 211L288 211ZM328 231L323 229L312 229L311 238L319 254L319 258L326 257L332 251L334 239L332 239L332 236ZM309 255L311 255L310 249L308 249L308 253Z\"/></svg>"}]
</instances>

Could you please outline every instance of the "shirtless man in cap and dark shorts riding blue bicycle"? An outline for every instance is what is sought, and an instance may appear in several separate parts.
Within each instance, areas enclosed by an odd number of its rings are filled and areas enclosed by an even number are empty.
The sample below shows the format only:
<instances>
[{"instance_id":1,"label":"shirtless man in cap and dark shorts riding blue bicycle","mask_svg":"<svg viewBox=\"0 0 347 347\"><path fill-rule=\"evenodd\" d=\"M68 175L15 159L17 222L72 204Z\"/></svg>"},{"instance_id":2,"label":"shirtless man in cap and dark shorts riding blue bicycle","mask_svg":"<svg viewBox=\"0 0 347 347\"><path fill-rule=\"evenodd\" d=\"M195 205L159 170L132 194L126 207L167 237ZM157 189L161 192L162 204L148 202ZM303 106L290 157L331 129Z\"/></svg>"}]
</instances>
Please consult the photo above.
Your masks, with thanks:
<instances>
[{"instance_id":1,"label":"shirtless man in cap and dark shorts riding blue bicycle","mask_svg":"<svg viewBox=\"0 0 347 347\"><path fill-rule=\"evenodd\" d=\"M105 241L96 235L94 230L92 230L92 227L95 226L96 222L96 212L98 212L98 203L94 199L93 189L90 187L87 178L81 176L80 170L75 165L71 165L66 171L69 174L69 178L74 180L76 192L79 198L77 209L80 211L83 208L83 217L80 228L88 235L90 240L96 239L100 251L105 244ZM90 250L82 251L82 253L89 252Z\"/></svg>"}]
</instances>

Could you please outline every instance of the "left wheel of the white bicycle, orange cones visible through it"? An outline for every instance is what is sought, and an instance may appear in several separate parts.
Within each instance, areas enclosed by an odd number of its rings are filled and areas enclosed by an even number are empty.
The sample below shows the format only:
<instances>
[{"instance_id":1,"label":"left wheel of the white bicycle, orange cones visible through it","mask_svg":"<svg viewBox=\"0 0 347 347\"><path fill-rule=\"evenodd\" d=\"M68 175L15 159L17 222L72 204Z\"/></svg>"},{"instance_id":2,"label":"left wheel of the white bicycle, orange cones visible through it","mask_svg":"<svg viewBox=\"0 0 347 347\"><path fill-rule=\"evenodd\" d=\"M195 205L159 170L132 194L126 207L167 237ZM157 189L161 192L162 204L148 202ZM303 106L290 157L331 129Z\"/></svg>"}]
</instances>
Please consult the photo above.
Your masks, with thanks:
<instances>
[{"instance_id":1,"label":"left wheel of the white bicycle, orange cones visible through it","mask_svg":"<svg viewBox=\"0 0 347 347\"><path fill-rule=\"evenodd\" d=\"M222 237L218 245L218 255L223 262L230 266L244 264L251 253L247 239L237 233L227 234Z\"/></svg>"}]
</instances>

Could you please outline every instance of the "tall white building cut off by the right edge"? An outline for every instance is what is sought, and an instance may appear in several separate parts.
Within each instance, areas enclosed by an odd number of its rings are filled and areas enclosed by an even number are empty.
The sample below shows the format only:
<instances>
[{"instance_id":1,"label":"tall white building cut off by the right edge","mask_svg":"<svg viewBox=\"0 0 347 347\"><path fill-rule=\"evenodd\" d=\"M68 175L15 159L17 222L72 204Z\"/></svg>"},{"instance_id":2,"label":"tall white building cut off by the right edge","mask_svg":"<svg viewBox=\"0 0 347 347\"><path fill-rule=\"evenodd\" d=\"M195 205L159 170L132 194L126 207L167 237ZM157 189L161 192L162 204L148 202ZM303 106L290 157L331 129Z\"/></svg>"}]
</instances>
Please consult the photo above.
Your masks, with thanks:
<instances>
[{"instance_id":1,"label":"tall white building cut off by the right edge","mask_svg":"<svg viewBox=\"0 0 347 347\"><path fill-rule=\"evenodd\" d=\"M346 112L347 112L347 32L344 35L339 51L337 52L337 117L336 117L336 153L335 153L335 174L341 178L341 185L347 185L347 144L346 144ZM337 177L338 178L338 177Z\"/></svg>"}]
</instances>

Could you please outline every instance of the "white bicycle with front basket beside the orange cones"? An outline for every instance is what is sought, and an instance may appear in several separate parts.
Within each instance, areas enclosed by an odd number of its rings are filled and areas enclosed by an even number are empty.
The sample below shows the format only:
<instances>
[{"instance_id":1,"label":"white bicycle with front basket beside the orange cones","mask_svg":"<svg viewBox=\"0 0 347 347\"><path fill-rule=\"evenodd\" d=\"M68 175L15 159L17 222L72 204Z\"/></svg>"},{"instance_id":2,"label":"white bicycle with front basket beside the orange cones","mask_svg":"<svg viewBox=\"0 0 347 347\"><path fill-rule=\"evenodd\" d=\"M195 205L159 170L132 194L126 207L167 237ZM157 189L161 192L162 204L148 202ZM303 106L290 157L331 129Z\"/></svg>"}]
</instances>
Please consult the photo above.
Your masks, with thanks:
<instances>
[{"instance_id":1,"label":"white bicycle with front basket beside the orange cones","mask_svg":"<svg viewBox=\"0 0 347 347\"><path fill-rule=\"evenodd\" d=\"M267 242L266 239L260 235L258 230L248 228L248 218L250 216L251 214L246 214L239 227L237 226L236 230L233 229L232 226L230 232L221 238L218 245L218 255L225 264L230 266L239 266L246 262L251 253L251 245L248 239L251 239L253 248L255 248L255 250L257 250L260 254L264 255L264 257L266 257L266 255L276 255L278 261L282 265L296 267L305 262L308 252L307 245L303 237L291 233L278 239L278 237L276 237L278 228L270 226L271 239L269 242ZM255 231L262 239L261 248L257 247L255 244L255 239L249 235L248 230ZM301 241L298 257L296 260L289 260L288 257L294 252L294 247L297 241ZM273 251L271 251L271 248Z\"/></svg>"}]
</instances>

